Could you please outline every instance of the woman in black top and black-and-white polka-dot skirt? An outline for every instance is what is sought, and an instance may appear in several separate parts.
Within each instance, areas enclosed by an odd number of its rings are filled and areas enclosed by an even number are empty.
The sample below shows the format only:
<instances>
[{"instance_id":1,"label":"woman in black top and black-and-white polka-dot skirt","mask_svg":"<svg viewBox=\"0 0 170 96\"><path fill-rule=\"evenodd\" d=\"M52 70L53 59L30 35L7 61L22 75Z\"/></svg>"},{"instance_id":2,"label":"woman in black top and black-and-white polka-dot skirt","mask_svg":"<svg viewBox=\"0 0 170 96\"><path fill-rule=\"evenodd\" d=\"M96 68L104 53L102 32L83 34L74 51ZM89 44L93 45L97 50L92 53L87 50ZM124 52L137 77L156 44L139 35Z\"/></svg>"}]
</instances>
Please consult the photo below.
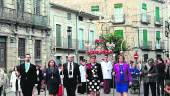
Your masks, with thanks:
<instances>
[{"instance_id":1,"label":"woman in black top and black-and-white polka-dot skirt","mask_svg":"<svg viewBox=\"0 0 170 96\"><path fill-rule=\"evenodd\" d=\"M89 96L100 96L100 83L103 75L101 65L96 62L96 55L90 56L90 63L86 65L86 74Z\"/></svg>"}]
</instances>

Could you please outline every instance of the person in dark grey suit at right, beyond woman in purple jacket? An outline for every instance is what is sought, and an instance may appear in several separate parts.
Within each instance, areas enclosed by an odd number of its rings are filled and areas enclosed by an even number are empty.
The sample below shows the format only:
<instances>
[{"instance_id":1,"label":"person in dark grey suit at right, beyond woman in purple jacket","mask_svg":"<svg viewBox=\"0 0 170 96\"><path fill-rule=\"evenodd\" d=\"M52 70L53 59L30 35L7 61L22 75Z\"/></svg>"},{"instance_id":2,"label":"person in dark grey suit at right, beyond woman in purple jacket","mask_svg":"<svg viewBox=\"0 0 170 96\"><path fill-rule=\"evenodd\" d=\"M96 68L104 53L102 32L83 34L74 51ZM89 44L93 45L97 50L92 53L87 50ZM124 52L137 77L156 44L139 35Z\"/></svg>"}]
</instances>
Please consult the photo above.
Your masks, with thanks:
<instances>
[{"instance_id":1,"label":"person in dark grey suit at right, beyond woman in purple jacket","mask_svg":"<svg viewBox=\"0 0 170 96\"><path fill-rule=\"evenodd\" d=\"M142 68L144 96L149 96L149 86L152 96L156 96L157 68L151 58Z\"/></svg>"}]
</instances>

